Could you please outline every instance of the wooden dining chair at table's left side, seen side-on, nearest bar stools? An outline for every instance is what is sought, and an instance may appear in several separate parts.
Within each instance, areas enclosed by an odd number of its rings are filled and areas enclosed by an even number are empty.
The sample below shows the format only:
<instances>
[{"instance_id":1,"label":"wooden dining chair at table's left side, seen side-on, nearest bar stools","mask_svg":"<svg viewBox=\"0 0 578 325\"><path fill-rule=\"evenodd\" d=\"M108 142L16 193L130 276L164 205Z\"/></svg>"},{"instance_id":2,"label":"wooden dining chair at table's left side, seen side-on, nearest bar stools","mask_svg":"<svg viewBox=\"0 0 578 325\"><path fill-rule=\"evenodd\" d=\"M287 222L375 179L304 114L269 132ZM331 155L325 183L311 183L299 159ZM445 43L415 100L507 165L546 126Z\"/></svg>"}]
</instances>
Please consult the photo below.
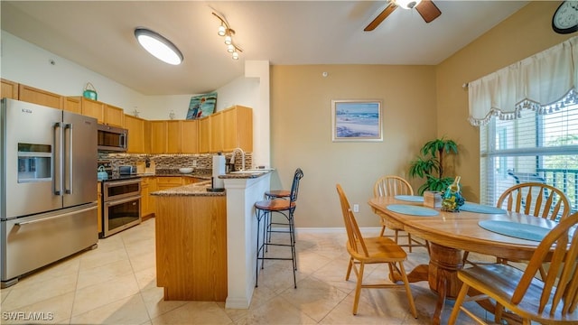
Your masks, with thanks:
<instances>
[{"instance_id":1,"label":"wooden dining chair at table's left side, seen side-on, nearest bar stools","mask_svg":"<svg viewBox=\"0 0 578 325\"><path fill-rule=\"evenodd\" d=\"M404 286L406 288L407 300L412 315L417 318L415 310L414 296L412 295L407 280L404 261L407 259L406 251L393 240L387 237L363 237L359 231L357 220L350 209L350 202L345 196L345 192L337 184L337 192L340 197L341 212L343 222L347 231L347 250L350 253L350 265L345 275L345 280L350 280L351 270L357 275L357 285L355 289L355 299L353 301L353 314L357 315L359 305L359 293L361 288L390 288ZM387 264L389 273L397 272L401 274L403 283L363 283L363 272L365 265L368 264ZM358 269L359 265L359 269ZM395 271L394 271L395 270Z\"/></svg>"}]
</instances>

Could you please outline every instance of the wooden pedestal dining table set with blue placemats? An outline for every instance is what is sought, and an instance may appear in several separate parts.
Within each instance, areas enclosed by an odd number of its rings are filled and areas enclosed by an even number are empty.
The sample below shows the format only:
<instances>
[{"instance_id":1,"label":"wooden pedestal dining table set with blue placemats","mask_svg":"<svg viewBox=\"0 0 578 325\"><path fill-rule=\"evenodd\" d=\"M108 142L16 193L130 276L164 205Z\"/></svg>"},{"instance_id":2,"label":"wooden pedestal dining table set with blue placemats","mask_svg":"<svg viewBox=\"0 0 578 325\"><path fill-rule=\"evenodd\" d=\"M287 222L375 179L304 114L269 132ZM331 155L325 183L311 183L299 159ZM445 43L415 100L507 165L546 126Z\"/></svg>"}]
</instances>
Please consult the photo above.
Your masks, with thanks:
<instances>
[{"instance_id":1,"label":"wooden pedestal dining table set with blue placemats","mask_svg":"<svg viewBox=\"0 0 578 325\"><path fill-rule=\"evenodd\" d=\"M424 207L419 200L399 200L394 196L373 198L368 204L388 224L429 242L429 265L417 265L407 277L411 283L427 281L432 291L437 293L433 324L440 323L445 300L454 299L460 291L461 281L457 272L463 267L464 251L524 261L530 259L540 243L536 239L517 237L515 231L503 235L504 232L490 231L480 224L505 221L513 228L541 228L545 232L556 225L555 221L545 218L492 207L449 212ZM399 274L390 274L390 277L393 281L401 280ZM489 301L483 301L480 305L493 312ZM510 316L516 318L515 315Z\"/></svg>"}]
</instances>

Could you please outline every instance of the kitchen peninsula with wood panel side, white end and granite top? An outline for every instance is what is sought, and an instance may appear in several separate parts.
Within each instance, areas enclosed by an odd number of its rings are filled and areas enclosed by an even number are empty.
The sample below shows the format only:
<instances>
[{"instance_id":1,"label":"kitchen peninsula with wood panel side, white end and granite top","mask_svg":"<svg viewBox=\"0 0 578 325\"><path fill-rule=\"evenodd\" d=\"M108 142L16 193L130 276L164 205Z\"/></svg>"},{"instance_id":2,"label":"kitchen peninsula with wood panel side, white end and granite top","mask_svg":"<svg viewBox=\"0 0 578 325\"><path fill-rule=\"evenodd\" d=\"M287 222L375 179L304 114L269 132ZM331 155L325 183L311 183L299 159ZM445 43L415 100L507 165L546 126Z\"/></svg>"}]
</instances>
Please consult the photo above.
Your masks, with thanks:
<instances>
[{"instance_id":1,"label":"kitchen peninsula with wood panel side, white end and granite top","mask_svg":"<svg viewBox=\"0 0 578 325\"><path fill-rule=\"evenodd\" d=\"M226 302L248 308L255 287L254 204L269 190L271 172L221 175L224 192L202 181L156 197L157 286L164 300Z\"/></svg>"}]
</instances>

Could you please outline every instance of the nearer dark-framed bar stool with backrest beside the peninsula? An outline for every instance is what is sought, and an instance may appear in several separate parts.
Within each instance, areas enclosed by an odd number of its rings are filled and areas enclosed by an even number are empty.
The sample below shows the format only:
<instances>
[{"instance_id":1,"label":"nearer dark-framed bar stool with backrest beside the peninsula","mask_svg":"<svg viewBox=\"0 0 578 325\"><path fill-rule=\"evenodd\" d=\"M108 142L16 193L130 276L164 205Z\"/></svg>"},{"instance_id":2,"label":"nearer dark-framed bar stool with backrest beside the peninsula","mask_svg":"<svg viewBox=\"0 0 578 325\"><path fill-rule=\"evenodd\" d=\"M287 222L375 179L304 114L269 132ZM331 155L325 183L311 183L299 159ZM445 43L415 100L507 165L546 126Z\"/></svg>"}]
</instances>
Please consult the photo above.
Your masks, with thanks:
<instances>
[{"instance_id":1,"label":"nearer dark-framed bar stool with backrest beside the peninsula","mask_svg":"<svg viewBox=\"0 0 578 325\"><path fill-rule=\"evenodd\" d=\"M273 200L261 200L255 203L255 213L256 213L256 280L255 287L258 286L259 279L259 260L261 262L261 269L265 266L265 260L291 260L293 262L293 282L294 287L297 288L297 280L295 278L295 271L297 270L297 258L295 252L295 227L294 227L294 212L297 207L297 195L299 193L299 181L303 178L303 171L301 168L297 168L294 173L293 185L291 187L291 193L289 195L289 200L284 199L273 199ZM275 231L275 232L285 232L289 234L289 244L283 244L281 242L271 242L269 234L269 228L267 225L268 220L271 220L271 215L273 212L277 212L287 219L288 230L286 231ZM261 220L264 220L263 230L261 233ZM263 240L261 241L261 237ZM291 257L275 257L266 256L268 246L288 246L291 247Z\"/></svg>"}]
</instances>

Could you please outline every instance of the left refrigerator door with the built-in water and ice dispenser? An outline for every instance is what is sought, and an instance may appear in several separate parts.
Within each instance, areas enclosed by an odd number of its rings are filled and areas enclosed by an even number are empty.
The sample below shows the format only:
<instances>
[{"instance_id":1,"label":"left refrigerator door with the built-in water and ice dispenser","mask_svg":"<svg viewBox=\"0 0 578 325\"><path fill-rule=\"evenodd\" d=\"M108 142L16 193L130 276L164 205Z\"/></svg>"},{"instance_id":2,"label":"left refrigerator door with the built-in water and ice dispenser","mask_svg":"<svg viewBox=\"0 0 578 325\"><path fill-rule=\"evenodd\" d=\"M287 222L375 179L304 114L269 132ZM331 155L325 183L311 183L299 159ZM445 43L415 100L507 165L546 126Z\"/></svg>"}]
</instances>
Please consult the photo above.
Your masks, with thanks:
<instances>
[{"instance_id":1,"label":"left refrigerator door with the built-in water and ice dispenser","mask_svg":"<svg viewBox=\"0 0 578 325\"><path fill-rule=\"evenodd\" d=\"M0 218L61 209L62 111L6 98L1 107Z\"/></svg>"}]
</instances>

